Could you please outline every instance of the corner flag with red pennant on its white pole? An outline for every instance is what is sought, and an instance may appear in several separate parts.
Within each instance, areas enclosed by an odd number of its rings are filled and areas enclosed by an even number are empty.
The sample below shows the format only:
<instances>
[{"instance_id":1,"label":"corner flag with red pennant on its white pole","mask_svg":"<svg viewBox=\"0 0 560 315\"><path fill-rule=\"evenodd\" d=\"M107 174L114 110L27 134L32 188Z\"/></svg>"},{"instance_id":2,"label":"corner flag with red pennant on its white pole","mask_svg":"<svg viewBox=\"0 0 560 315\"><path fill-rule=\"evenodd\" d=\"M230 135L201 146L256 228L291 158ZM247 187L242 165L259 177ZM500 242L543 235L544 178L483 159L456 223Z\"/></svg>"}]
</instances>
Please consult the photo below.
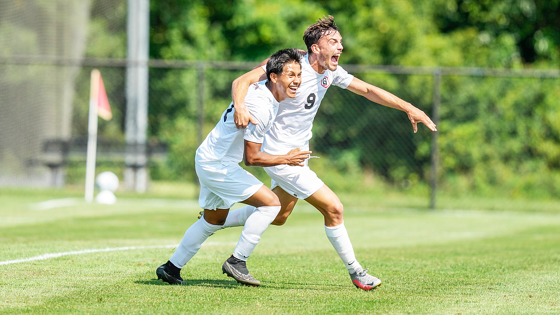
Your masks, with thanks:
<instances>
[{"instance_id":1,"label":"corner flag with red pennant on its white pole","mask_svg":"<svg viewBox=\"0 0 560 315\"><path fill-rule=\"evenodd\" d=\"M113 117L99 70L91 71L90 110L87 123L86 202L94 200L95 159L97 154L97 115L108 121Z\"/></svg>"}]
</instances>

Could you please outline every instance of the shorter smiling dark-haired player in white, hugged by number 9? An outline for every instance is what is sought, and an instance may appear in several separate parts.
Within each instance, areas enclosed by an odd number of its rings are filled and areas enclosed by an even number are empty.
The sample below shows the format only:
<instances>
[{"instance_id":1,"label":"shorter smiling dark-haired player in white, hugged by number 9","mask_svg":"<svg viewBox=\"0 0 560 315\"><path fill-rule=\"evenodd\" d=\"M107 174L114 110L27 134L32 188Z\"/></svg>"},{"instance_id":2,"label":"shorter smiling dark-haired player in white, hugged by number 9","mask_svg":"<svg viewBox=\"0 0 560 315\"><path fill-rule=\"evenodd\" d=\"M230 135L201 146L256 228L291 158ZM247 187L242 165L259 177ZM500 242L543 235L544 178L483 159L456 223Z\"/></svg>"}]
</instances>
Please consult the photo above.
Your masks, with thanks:
<instances>
[{"instance_id":1,"label":"shorter smiling dark-haired player in white, hugged by number 9","mask_svg":"<svg viewBox=\"0 0 560 315\"><path fill-rule=\"evenodd\" d=\"M200 249L210 235L222 228L228 211L236 202L254 209L237 243L234 253L222 265L223 273L245 285L259 286L246 267L247 258L268 225L281 209L280 201L267 186L239 166L241 159L248 166L291 165L301 168L310 151L299 148L287 154L269 155L261 152L264 133L268 131L278 110L278 102L294 98L301 84L301 54L297 49L274 53L267 63L267 80L251 85L244 104L251 112L245 129L234 123L234 103L223 112L195 155L195 170L200 180L199 205L204 215L186 230L183 240L169 261L156 270L158 279L169 284L185 284L180 270ZM285 153L283 152L283 153Z\"/></svg>"}]
</instances>

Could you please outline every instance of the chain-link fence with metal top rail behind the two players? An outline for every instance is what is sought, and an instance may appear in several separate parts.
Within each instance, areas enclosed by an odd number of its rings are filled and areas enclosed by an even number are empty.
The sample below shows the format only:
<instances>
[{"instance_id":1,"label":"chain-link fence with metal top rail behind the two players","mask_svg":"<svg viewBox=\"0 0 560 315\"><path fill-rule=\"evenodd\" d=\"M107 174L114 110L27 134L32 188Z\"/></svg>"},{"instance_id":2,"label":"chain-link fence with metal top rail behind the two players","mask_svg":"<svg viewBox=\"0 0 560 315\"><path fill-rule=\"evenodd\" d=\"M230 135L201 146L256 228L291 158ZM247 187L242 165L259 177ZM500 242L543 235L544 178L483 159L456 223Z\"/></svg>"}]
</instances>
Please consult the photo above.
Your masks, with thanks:
<instances>
[{"instance_id":1,"label":"chain-link fence with metal top rail behind the two players","mask_svg":"<svg viewBox=\"0 0 560 315\"><path fill-rule=\"evenodd\" d=\"M22 112L26 105L38 102L32 99L38 93L25 87L17 90L10 84L2 86L3 98L11 95L18 100L18 105L13 107L2 106L3 126L7 127L2 144L4 185L54 184L53 165L57 163L65 166L66 182L82 182L89 74L93 68L99 68L102 73L114 113L112 121L100 121L98 165L100 169L110 168L122 174L125 61L4 58L2 63L4 71L13 76L34 69L39 69L38 72L76 69L71 137L64 149L66 157L53 152L60 149L53 145L64 140L56 132L60 127L54 122L50 132L29 133L32 126L50 121L53 113L63 110L62 105L57 106L54 99L43 99L45 106L39 106L42 111ZM152 147L158 143L166 145L165 160L161 155L160 159L152 159L152 179L194 180L194 151L230 103L231 82L251 66L253 63L150 62L148 143ZM432 180L456 191L504 188L515 194L516 189L524 189L515 186L516 180L520 186L533 185L537 190L539 185L549 186L550 194L558 189L558 179L554 177L544 183L536 179L522 182L515 178L520 172L530 175L531 172L558 170L558 160L555 160L558 156L555 153L558 150L557 72L346 68L357 77L410 101L434 119L437 119L433 113L434 100L441 100L438 122L441 149L433 147L434 133L426 127L419 126L419 132L414 134L403 112L332 87L321 103L311 141L311 149L328 161L321 169L337 171L353 183L369 172L403 189L427 185ZM17 147L24 143L34 149L18 151ZM434 156L438 151L441 151L439 158ZM437 177L434 177L434 162L440 170ZM527 166L528 163L533 166ZM13 177L16 180L6 177L6 174L18 172L19 177ZM496 172L501 173L489 175ZM540 177L546 176L541 174Z\"/></svg>"}]
</instances>

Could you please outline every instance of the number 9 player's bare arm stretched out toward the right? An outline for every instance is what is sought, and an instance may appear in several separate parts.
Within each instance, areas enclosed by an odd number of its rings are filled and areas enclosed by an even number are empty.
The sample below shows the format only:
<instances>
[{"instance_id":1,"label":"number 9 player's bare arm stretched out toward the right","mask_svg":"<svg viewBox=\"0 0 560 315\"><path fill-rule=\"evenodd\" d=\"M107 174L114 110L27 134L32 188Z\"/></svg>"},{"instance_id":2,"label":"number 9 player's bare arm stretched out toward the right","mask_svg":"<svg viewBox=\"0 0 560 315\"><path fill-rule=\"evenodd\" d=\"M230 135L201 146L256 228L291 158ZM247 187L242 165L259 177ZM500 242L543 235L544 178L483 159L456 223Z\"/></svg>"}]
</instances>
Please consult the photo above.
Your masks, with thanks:
<instances>
[{"instance_id":1,"label":"number 9 player's bare arm stretched out toward the right","mask_svg":"<svg viewBox=\"0 0 560 315\"><path fill-rule=\"evenodd\" d=\"M351 84L347 87L347 89L358 95L362 95L368 100L374 101L377 104L400 109L403 112L407 113L408 119L410 119L410 123L412 123L414 133L418 131L417 124L419 122L425 124L426 127L430 128L431 131L437 131L436 124L432 122L432 119L430 119L430 117L428 117L426 113L414 107L407 101L399 99L388 91L363 82L356 77L353 78Z\"/></svg>"}]
</instances>

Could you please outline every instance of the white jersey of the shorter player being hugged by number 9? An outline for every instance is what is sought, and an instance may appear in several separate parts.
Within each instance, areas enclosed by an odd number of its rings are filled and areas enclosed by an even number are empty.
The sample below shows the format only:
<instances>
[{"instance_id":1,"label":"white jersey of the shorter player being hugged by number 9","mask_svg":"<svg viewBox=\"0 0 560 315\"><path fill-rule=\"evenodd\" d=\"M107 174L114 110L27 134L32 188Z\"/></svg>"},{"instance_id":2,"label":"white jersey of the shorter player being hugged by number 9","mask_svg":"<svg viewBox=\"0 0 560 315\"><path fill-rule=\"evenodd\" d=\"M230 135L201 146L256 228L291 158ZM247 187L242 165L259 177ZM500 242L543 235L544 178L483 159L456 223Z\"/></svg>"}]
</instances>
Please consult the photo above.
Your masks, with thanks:
<instances>
[{"instance_id":1,"label":"white jersey of the shorter player being hugged by number 9","mask_svg":"<svg viewBox=\"0 0 560 315\"><path fill-rule=\"evenodd\" d=\"M220 122L212 129L197 149L195 159L198 162L232 162L243 159L243 140L263 143L264 134L272 126L278 110L278 101L266 87L266 80L249 86L245 97L245 106L258 124L249 123L243 129L237 129L234 123L234 103L222 113ZM286 152L284 152L286 153Z\"/></svg>"}]
</instances>

